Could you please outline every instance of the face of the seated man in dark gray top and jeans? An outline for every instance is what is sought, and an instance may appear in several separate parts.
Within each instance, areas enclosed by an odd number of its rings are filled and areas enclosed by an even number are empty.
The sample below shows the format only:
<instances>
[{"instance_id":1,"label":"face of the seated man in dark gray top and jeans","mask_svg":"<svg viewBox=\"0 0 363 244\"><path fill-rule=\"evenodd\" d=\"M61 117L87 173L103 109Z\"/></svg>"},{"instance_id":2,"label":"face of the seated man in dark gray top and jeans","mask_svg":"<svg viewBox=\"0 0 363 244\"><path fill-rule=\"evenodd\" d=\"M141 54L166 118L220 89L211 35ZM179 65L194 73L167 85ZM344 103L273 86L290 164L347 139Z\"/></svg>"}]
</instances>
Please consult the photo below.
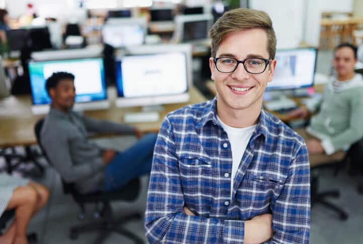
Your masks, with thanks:
<instances>
[{"instance_id":1,"label":"face of the seated man in dark gray top and jeans","mask_svg":"<svg viewBox=\"0 0 363 244\"><path fill-rule=\"evenodd\" d=\"M49 90L52 104L61 109L70 109L75 103L76 90L71 79L60 80L57 86Z\"/></svg>"}]
</instances>

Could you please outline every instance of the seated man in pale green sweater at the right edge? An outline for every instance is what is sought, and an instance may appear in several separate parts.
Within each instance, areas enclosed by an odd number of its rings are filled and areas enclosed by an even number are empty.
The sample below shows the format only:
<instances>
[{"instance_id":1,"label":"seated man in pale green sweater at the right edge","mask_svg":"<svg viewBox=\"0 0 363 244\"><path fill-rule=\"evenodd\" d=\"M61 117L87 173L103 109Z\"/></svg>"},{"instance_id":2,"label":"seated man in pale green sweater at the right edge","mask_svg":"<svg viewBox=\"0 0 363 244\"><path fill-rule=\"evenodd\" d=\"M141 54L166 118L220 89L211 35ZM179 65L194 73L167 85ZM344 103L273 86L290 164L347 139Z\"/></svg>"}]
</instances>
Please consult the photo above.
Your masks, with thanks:
<instances>
[{"instance_id":1,"label":"seated man in pale green sweater at the right edge","mask_svg":"<svg viewBox=\"0 0 363 244\"><path fill-rule=\"evenodd\" d=\"M289 114L291 118L304 118L318 111L306 130L297 130L306 140L311 162L315 155L336 155L340 159L338 154L344 154L339 152L363 137L363 79L354 73L356 62L354 45L338 45L333 58L336 76L325 85L322 101Z\"/></svg>"}]
</instances>

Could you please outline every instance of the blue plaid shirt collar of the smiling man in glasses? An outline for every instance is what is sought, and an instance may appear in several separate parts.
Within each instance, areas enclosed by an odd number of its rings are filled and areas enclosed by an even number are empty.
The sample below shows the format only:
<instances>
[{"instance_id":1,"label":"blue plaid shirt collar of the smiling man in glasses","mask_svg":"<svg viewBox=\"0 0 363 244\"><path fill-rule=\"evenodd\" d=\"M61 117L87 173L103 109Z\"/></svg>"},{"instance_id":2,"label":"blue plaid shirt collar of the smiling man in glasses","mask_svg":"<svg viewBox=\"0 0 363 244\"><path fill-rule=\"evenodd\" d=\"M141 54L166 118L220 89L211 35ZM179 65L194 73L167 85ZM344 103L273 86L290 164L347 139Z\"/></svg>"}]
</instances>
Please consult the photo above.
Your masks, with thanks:
<instances>
[{"instance_id":1,"label":"blue plaid shirt collar of the smiling man in glasses","mask_svg":"<svg viewBox=\"0 0 363 244\"><path fill-rule=\"evenodd\" d=\"M204 107L202 116L199 119L199 122L196 124L197 128L201 128L205 126L208 121L211 121L216 126L221 126L220 123L217 120L217 96L215 96L212 100L208 101L206 106ZM256 139L258 136L263 135L265 142L268 137L268 125L272 121L270 121L268 114L266 111L262 108L260 116L258 117L257 121L257 127L252 135L254 139Z\"/></svg>"}]
</instances>

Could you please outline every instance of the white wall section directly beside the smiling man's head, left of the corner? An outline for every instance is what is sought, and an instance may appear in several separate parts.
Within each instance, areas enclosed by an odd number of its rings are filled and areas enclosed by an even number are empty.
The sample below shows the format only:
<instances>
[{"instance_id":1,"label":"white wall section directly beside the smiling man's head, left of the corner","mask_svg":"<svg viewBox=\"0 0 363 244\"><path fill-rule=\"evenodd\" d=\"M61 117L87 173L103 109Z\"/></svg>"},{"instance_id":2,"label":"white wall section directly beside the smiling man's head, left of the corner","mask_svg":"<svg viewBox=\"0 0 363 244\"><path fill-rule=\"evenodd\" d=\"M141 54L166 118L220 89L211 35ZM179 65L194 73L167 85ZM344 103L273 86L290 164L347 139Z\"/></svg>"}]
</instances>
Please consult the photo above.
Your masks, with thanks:
<instances>
[{"instance_id":1,"label":"white wall section directly beside the smiling man's head, left of the corner","mask_svg":"<svg viewBox=\"0 0 363 244\"><path fill-rule=\"evenodd\" d=\"M252 0L250 8L265 11L272 20L277 48L297 47L303 39L305 0Z\"/></svg>"}]
</instances>

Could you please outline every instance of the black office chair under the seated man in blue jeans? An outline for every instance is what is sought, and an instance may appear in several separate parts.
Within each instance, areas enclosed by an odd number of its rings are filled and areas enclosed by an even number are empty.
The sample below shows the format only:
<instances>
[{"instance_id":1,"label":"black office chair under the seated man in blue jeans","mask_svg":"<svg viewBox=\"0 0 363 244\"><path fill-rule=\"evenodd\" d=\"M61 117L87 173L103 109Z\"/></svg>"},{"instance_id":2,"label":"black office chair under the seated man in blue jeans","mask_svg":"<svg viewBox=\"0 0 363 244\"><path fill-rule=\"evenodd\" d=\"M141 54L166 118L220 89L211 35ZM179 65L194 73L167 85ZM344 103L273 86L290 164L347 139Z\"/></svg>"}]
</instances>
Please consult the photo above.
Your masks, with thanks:
<instances>
[{"instance_id":1,"label":"black office chair under the seated man in blue jeans","mask_svg":"<svg viewBox=\"0 0 363 244\"><path fill-rule=\"evenodd\" d=\"M51 164L51 161L49 161L49 158L47 157L44 149L42 148L40 144L40 131L43 126L44 119L40 119L36 125L35 125L35 135L38 141L38 144L40 148L43 151L43 154L45 158L48 160L49 164ZM69 229L69 238L70 239L77 239L79 233L87 232L87 231L94 231L94 230L100 230L101 234L96 239L95 243L99 244L102 243L103 240L107 237L107 235L110 232L117 232L121 235L124 235L130 239L132 239L135 243L143 243L144 241L130 232L129 230L121 227L120 225L130 221L132 219L141 219L141 215L139 213L136 214L130 214L128 216L123 217L120 220L115 220L113 218L112 214L112 208L110 205L111 201L133 201L137 198L139 189L140 189L140 181L139 179L133 179L131 180L125 187L118 191L113 192L103 192L99 191L96 193L91 194L80 194L75 185L73 183L65 182L65 180L62 178L62 186L63 186L63 193L64 194L70 194L74 201L80 206L82 212L79 217L82 217L85 211L85 204L87 203L94 203L99 204L103 203L103 209L101 211L102 220L97 222L91 222L83 225L78 226L72 226ZM98 215L98 214L97 214Z\"/></svg>"}]
</instances>

